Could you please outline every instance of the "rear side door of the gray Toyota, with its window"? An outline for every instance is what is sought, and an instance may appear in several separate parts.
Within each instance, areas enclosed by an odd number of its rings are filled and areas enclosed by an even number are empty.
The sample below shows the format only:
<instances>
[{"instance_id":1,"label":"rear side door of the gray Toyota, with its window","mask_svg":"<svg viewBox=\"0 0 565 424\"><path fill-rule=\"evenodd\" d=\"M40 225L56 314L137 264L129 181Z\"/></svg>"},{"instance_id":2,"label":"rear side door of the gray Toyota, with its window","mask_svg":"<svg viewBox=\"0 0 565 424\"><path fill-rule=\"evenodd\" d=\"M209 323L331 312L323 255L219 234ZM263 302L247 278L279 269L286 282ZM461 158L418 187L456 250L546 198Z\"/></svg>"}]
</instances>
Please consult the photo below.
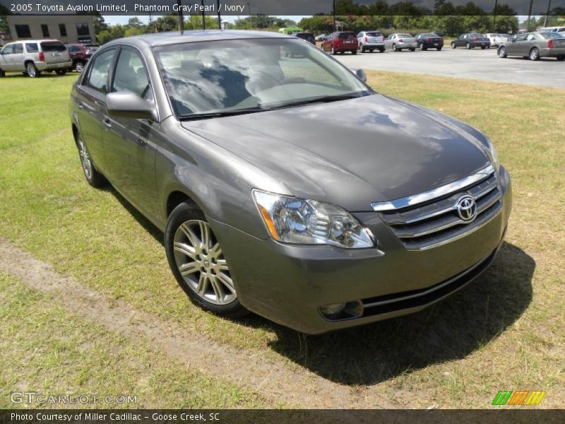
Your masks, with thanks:
<instances>
[{"instance_id":1,"label":"rear side door of the gray Toyota, with its window","mask_svg":"<svg viewBox=\"0 0 565 424\"><path fill-rule=\"evenodd\" d=\"M97 170L112 181L108 174L102 140L102 119L105 112L105 97L108 93L109 73L117 49L107 49L96 54L83 82L76 86L74 101L78 107L78 126L81 138L93 159Z\"/></svg>"}]
</instances>

